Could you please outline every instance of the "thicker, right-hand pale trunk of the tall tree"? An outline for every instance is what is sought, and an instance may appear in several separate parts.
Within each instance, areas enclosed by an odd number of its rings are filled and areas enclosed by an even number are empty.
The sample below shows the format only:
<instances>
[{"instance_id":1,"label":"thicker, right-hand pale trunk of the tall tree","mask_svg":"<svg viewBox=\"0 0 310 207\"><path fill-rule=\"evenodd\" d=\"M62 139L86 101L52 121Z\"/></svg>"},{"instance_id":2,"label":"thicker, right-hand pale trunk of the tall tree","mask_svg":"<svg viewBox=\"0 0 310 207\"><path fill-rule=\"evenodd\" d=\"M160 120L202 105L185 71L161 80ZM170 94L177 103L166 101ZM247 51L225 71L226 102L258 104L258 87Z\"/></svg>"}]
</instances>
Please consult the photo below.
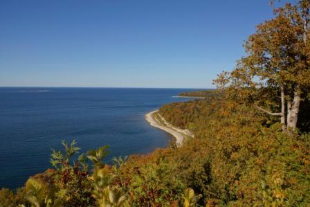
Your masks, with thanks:
<instances>
[{"instance_id":1,"label":"thicker, right-hand pale trunk of the tall tree","mask_svg":"<svg viewBox=\"0 0 310 207\"><path fill-rule=\"evenodd\" d=\"M298 112L300 107L300 89L295 87L293 102L287 102L287 128L296 129Z\"/></svg>"}]
</instances>

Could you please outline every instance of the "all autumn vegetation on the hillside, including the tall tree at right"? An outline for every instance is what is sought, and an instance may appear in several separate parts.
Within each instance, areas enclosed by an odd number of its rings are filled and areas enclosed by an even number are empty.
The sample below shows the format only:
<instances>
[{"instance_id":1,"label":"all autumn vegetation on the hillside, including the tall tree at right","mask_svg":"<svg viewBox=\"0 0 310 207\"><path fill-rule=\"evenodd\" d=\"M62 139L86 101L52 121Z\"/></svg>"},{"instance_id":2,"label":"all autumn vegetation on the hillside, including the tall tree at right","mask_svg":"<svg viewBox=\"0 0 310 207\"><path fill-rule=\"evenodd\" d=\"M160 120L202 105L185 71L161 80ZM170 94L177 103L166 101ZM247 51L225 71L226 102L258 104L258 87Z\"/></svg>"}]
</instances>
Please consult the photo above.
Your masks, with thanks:
<instances>
[{"instance_id":1,"label":"all autumn vegetation on the hillside, including the tall tree at right","mask_svg":"<svg viewBox=\"0 0 310 207\"><path fill-rule=\"evenodd\" d=\"M302 0L275 10L217 91L159 109L194 134L181 147L109 166L107 146L73 161L80 148L63 141L53 169L2 189L0 206L309 206L309 9Z\"/></svg>"}]
</instances>

